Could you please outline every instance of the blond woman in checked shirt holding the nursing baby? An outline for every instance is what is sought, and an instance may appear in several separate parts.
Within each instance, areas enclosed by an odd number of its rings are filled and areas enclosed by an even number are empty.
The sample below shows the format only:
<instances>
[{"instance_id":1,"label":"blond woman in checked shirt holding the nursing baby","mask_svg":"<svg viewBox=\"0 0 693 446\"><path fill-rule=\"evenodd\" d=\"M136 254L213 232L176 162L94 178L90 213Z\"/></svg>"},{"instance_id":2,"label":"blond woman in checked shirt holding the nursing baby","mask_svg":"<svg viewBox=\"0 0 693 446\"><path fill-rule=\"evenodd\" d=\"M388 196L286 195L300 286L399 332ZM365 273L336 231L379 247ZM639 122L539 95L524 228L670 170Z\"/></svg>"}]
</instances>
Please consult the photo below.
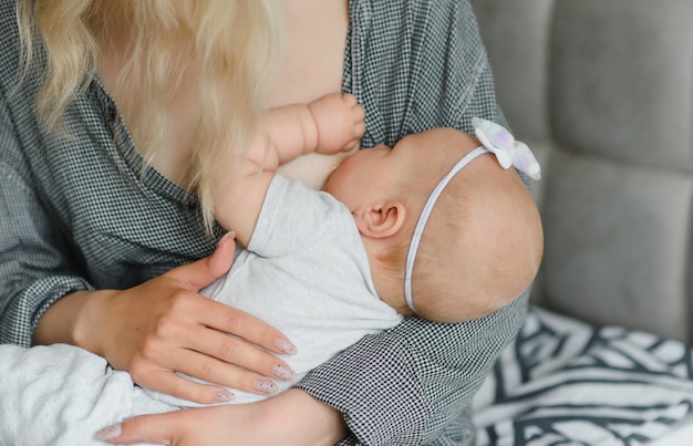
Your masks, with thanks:
<instances>
[{"instance_id":1,"label":"blond woman in checked shirt holding the nursing baby","mask_svg":"<svg viewBox=\"0 0 693 446\"><path fill-rule=\"evenodd\" d=\"M76 344L201 403L228 394L174 372L248 391L281 378L290 340L196 292L230 263L228 252L194 261L220 237L209 184L232 174L219 166L245 155L261 111L353 93L363 147L503 121L468 1L279 3L0 0L2 342ZM303 158L285 174L320 183L310 174L338 162ZM467 323L407 319L277 397L134 418L103 437L470 444L461 414L525 308L526 294Z\"/></svg>"}]
</instances>

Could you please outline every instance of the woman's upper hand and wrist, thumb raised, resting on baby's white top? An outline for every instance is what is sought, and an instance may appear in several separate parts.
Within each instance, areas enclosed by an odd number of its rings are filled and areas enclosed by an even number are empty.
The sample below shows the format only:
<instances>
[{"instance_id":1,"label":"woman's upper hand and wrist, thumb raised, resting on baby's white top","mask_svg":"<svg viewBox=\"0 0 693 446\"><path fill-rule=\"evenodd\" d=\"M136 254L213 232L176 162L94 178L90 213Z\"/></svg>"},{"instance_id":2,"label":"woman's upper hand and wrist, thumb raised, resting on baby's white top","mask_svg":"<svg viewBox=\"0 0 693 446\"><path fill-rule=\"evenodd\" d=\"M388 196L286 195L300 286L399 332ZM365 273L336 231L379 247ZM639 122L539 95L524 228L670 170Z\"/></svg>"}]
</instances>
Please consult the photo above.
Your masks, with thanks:
<instances>
[{"instance_id":1,"label":"woman's upper hand and wrist, thumb raised, resting on baby's white top","mask_svg":"<svg viewBox=\"0 0 693 446\"><path fill-rule=\"evenodd\" d=\"M234 240L227 237L214 255L130 290L65 297L42 318L34 341L65 342L54 335L50 339L50 330L53 334L70 331L64 335L69 343L106 357L114 369L130 372L137 384L198 403L226 402L232 395L175 372L270 393L275 384L268 376L287 380L293 372L258 345L280 354L294 353L296 348L257 318L198 294L228 271L234 250Z\"/></svg>"}]
</instances>

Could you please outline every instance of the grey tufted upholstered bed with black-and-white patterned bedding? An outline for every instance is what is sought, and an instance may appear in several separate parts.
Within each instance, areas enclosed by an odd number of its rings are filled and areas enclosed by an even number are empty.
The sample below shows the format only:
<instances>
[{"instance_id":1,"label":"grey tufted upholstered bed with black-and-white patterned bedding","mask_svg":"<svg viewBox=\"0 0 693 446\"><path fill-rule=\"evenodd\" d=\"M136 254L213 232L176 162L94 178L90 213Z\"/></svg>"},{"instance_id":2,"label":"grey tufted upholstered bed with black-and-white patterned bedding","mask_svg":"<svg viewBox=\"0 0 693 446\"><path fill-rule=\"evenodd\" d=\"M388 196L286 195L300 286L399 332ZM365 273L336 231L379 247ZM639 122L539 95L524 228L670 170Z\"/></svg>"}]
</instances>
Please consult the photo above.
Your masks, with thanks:
<instances>
[{"instance_id":1,"label":"grey tufted upholstered bed with black-and-white patterned bedding","mask_svg":"<svg viewBox=\"0 0 693 446\"><path fill-rule=\"evenodd\" d=\"M693 1L472 3L546 236L478 444L693 444Z\"/></svg>"}]
</instances>

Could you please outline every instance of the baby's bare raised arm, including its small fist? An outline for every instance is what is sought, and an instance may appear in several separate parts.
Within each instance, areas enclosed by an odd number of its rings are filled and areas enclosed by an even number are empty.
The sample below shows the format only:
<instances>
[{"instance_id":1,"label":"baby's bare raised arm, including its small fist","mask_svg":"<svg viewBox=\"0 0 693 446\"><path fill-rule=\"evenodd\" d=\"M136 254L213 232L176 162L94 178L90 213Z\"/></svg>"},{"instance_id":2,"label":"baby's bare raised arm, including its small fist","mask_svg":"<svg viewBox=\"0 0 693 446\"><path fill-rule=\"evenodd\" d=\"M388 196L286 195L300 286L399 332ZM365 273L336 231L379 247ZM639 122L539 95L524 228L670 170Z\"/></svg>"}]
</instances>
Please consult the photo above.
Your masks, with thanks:
<instances>
[{"instance_id":1,"label":"baby's bare raised arm, including its small fist","mask_svg":"<svg viewBox=\"0 0 693 446\"><path fill-rule=\"evenodd\" d=\"M291 104L266 112L248 160L234 180L216 185L215 216L248 246L277 167L300 155L351 149L363 135L363 107L351 94L329 94L308 105Z\"/></svg>"}]
</instances>

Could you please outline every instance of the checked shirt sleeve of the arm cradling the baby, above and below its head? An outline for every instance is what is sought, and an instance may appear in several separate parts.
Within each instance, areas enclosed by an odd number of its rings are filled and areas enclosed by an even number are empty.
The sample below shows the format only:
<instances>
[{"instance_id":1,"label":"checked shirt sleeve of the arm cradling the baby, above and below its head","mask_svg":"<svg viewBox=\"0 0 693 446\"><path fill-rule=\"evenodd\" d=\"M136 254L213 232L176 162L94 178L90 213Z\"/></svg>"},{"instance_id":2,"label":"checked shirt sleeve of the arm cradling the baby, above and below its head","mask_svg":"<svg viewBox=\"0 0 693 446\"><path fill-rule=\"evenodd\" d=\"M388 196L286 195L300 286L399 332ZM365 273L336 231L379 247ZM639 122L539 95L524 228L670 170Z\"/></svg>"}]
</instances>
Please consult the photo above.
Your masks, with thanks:
<instances>
[{"instance_id":1,"label":"checked shirt sleeve of the arm cradling the baby, above and below its head","mask_svg":"<svg viewBox=\"0 0 693 446\"><path fill-rule=\"evenodd\" d=\"M468 1L401 2L405 10L389 17L404 24L377 19L386 15L384 3L351 3L354 22L369 23L352 35L345 79L366 108L365 147L436 126L469 131L473 116L505 124ZM316 369L299 387L344 414L351 434L343 445L472 445L472 398L521 326L528 294L459 324L407 318Z\"/></svg>"}]
</instances>

